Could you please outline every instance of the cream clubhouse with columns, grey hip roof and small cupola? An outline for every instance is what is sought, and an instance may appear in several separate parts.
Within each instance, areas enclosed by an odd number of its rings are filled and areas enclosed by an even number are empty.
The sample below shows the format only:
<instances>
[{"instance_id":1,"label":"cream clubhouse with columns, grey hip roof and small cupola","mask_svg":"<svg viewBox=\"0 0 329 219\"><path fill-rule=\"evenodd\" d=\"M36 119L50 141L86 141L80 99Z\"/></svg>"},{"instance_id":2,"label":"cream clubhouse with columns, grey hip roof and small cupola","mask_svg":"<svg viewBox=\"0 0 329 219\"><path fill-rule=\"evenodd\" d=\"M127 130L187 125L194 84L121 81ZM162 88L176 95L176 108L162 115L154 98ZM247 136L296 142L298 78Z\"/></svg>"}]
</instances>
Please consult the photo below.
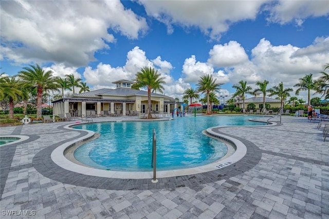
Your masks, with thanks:
<instances>
[{"instance_id":1,"label":"cream clubhouse with columns, grey hip roof and small cupola","mask_svg":"<svg viewBox=\"0 0 329 219\"><path fill-rule=\"evenodd\" d=\"M111 111L119 110L122 115L126 115L127 110L135 110L140 113L146 113L148 109L148 92L132 89L132 81L120 80L113 82L116 89L99 89L90 92L74 94L70 97L64 97L52 101L53 114L64 114L67 112L76 112L77 116L86 115L86 111ZM177 107L174 98L151 93L151 108L155 113L170 113Z\"/></svg>"}]
</instances>

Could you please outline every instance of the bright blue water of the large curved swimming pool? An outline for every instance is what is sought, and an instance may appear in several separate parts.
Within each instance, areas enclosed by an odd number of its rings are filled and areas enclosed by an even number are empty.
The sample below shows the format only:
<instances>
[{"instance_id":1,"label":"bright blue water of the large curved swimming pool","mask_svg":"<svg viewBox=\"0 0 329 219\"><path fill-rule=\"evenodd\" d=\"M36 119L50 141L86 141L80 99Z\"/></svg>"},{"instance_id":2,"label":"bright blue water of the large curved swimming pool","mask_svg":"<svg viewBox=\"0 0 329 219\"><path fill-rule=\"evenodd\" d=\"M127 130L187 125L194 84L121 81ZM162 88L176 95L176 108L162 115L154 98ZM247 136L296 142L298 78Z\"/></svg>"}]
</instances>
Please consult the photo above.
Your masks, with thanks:
<instances>
[{"instance_id":1,"label":"bright blue water of the large curved swimming pool","mask_svg":"<svg viewBox=\"0 0 329 219\"><path fill-rule=\"evenodd\" d=\"M255 117L255 116L252 116ZM202 134L213 126L252 126L250 116L187 116L171 121L83 124L77 129L100 133L79 147L74 156L88 166L115 171L151 171L152 134L156 130L157 170L191 168L212 163L227 146Z\"/></svg>"}]
</instances>

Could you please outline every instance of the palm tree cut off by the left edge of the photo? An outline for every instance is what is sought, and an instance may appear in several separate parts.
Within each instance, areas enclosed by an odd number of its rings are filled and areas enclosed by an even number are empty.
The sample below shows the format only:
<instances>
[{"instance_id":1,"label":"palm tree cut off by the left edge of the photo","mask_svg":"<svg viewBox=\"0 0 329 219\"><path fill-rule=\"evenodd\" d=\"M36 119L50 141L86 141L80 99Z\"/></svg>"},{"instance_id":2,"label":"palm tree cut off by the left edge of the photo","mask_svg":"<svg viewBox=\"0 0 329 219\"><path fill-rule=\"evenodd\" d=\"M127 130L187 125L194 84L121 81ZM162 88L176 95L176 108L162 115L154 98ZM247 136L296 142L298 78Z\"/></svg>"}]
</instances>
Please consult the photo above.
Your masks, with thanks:
<instances>
[{"instance_id":1,"label":"palm tree cut off by the left edge of the photo","mask_svg":"<svg viewBox=\"0 0 329 219\"><path fill-rule=\"evenodd\" d=\"M0 82L1 100L9 99L9 118L14 118L14 101L17 101L23 92L20 90L19 82L15 77L2 77Z\"/></svg>"}]
</instances>

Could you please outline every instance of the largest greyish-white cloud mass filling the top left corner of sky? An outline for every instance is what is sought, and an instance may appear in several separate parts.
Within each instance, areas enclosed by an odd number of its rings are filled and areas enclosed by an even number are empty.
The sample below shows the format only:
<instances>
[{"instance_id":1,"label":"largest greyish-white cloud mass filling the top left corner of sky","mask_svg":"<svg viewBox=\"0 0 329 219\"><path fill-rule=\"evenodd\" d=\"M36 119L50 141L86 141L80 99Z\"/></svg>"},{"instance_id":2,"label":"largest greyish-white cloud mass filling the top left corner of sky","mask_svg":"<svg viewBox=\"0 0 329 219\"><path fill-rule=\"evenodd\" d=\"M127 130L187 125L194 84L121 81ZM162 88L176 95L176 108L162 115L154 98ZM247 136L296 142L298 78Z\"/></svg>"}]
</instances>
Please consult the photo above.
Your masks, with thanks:
<instances>
[{"instance_id":1,"label":"largest greyish-white cloud mass filling the top left corner of sky","mask_svg":"<svg viewBox=\"0 0 329 219\"><path fill-rule=\"evenodd\" d=\"M115 42L107 29L136 39L148 26L118 0L1 2L2 59L15 63L85 66Z\"/></svg>"}]
</instances>

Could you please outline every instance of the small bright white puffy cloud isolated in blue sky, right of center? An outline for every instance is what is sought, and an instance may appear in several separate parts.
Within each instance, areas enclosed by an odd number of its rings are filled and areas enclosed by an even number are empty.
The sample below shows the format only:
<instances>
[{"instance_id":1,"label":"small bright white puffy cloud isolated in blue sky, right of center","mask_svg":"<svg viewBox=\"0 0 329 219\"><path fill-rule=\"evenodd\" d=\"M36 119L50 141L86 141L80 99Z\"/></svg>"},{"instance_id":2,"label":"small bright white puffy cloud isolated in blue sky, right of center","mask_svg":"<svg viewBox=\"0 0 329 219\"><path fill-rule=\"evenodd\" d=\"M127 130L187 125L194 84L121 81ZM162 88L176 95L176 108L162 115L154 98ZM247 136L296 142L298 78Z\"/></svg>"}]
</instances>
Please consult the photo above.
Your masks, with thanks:
<instances>
[{"instance_id":1,"label":"small bright white puffy cloud isolated in blue sky, right of center","mask_svg":"<svg viewBox=\"0 0 329 219\"><path fill-rule=\"evenodd\" d=\"M214 45L209 51L209 55L208 63L220 68L234 66L248 60L244 48L236 41L230 41L224 45Z\"/></svg>"}]
</instances>

